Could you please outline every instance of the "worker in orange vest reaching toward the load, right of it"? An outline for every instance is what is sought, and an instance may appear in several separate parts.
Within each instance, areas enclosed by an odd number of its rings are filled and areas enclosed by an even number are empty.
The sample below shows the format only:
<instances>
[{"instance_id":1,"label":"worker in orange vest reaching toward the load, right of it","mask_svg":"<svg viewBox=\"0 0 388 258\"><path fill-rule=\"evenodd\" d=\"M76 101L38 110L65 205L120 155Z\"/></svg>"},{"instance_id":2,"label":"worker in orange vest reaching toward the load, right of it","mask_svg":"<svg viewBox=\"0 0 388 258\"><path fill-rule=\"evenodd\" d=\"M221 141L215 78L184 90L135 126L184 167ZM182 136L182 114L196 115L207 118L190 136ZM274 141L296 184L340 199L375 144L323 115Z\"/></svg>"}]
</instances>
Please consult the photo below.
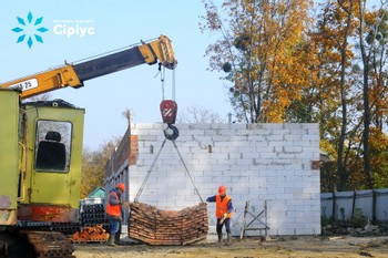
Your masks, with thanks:
<instances>
[{"instance_id":1,"label":"worker in orange vest reaching toward the load, right of it","mask_svg":"<svg viewBox=\"0 0 388 258\"><path fill-rule=\"evenodd\" d=\"M223 227L225 225L227 234L226 245L231 245L231 217L233 204L231 196L226 195L226 187L219 186L218 194L206 199L207 203L216 203L215 216L217 218L216 231L218 235L218 244L223 242Z\"/></svg>"}]
</instances>

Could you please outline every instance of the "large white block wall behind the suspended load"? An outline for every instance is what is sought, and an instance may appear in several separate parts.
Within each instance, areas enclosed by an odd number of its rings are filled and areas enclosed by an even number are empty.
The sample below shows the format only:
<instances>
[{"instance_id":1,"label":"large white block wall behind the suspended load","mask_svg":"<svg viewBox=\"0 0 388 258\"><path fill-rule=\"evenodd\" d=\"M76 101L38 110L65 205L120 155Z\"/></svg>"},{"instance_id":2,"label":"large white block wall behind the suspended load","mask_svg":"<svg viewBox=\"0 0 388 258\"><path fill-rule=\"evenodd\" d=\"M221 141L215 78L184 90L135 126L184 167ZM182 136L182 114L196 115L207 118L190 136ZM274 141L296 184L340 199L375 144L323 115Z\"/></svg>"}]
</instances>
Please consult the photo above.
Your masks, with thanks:
<instances>
[{"instance_id":1,"label":"large white block wall behind the suspended load","mask_svg":"<svg viewBox=\"0 0 388 258\"><path fill-rule=\"evenodd\" d=\"M256 214L267 203L269 235L320 234L319 171L312 169L312 161L319 159L318 124L175 126L175 144L202 199L215 195L219 185L227 187L235 207L234 236L241 234L246 202ZM131 134L139 136L139 158L129 167L131 200L161 148L163 128L164 124L131 125ZM172 142L165 143L139 202L175 210L201 202ZM216 223L214 210L208 204L210 225Z\"/></svg>"}]
</instances>

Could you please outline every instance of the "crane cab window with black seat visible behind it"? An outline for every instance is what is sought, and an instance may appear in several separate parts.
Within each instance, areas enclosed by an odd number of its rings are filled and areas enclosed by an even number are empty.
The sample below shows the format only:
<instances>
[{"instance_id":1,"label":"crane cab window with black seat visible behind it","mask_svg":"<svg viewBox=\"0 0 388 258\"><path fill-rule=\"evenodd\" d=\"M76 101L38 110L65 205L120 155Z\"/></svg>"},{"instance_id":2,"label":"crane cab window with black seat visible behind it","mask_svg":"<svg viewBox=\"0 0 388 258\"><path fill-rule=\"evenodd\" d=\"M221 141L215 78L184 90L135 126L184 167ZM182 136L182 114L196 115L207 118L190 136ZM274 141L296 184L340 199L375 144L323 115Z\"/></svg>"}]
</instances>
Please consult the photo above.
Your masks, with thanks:
<instances>
[{"instance_id":1,"label":"crane cab window with black seat visible behind it","mask_svg":"<svg viewBox=\"0 0 388 258\"><path fill-rule=\"evenodd\" d=\"M37 123L35 171L68 173L71 123L40 120Z\"/></svg>"}]
</instances>

